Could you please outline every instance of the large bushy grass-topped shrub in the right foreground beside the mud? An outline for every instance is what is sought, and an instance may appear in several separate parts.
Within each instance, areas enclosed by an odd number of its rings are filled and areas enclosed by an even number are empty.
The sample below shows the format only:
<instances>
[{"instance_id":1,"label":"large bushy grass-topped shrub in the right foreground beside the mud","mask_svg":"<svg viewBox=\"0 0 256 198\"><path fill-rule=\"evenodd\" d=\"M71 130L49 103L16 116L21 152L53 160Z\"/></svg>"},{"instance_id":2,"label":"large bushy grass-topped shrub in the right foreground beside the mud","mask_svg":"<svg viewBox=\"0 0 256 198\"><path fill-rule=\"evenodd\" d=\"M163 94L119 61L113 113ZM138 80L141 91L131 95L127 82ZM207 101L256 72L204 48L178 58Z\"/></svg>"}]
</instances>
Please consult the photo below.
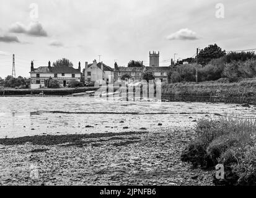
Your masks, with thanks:
<instances>
[{"instance_id":1,"label":"large bushy grass-topped shrub in the right foreground beside the mud","mask_svg":"<svg viewBox=\"0 0 256 198\"><path fill-rule=\"evenodd\" d=\"M256 120L221 117L200 119L196 137L182 153L182 161L211 168L225 166L225 179L215 184L256 184Z\"/></svg>"}]
</instances>

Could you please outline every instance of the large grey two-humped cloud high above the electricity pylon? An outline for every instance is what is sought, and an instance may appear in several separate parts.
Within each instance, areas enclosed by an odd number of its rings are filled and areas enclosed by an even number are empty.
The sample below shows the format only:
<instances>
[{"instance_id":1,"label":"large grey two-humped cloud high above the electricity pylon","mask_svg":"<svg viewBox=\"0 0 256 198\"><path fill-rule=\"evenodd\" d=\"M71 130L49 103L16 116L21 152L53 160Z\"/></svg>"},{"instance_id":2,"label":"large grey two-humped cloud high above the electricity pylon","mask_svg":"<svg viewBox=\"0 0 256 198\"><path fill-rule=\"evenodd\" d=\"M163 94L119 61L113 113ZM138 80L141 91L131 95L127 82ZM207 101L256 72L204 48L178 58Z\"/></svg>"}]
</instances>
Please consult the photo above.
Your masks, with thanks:
<instances>
[{"instance_id":1,"label":"large grey two-humped cloud high above the electricity pylon","mask_svg":"<svg viewBox=\"0 0 256 198\"><path fill-rule=\"evenodd\" d=\"M32 22L29 24L29 27L26 27L24 24L16 22L12 24L9 32L12 33L25 33L26 35L30 35L32 37L47 37L46 31L43 29L42 24L39 22Z\"/></svg>"}]
</instances>

